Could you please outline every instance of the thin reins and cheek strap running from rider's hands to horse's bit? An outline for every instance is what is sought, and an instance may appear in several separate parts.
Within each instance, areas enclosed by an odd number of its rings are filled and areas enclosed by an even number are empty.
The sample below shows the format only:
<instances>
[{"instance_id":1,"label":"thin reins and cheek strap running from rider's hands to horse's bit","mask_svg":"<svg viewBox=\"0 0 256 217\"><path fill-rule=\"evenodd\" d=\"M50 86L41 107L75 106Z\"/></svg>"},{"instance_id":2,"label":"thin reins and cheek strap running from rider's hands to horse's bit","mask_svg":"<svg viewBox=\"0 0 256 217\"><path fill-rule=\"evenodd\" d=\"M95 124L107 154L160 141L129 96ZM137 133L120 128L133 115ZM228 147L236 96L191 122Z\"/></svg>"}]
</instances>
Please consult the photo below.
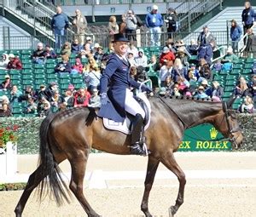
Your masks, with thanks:
<instances>
[{"instance_id":1,"label":"thin reins and cheek strap running from rider's hands to horse's bit","mask_svg":"<svg viewBox=\"0 0 256 217\"><path fill-rule=\"evenodd\" d=\"M189 128L188 124L186 124L186 123L183 121L183 119L177 114L177 112L174 111L174 110L172 109L172 107L169 106L169 105L165 102L165 100L163 100L163 99L160 97L159 94L155 94L155 95L168 107L169 110L171 110L171 111L177 116L177 118L180 120L180 122L183 123L183 127L184 127L185 129L186 129L186 128ZM228 124L229 132L230 132L230 135L232 135L232 133L234 133L234 132L233 132L234 129L232 130L232 129L230 128L230 122L229 122L229 120L228 120L228 112L227 112L228 110L227 110L226 102L223 102L223 107L224 107L224 117L226 117L226 121L227 121L227 124ZM221 123L224 122L224 117L223 117ZM236 139L235 139L234 137L233 137L233 138L228 138L228 139L226 139L226 138L224 138L224 136L223 136L222 138L215 139L215 140L206 140L205 138L201 137L200 134L197 134L197 133L195 132L195 130L193 130L193 129L191 129L191 128L190 128L190 130L193 132L193 134L195 134L196 136L198 136L198 138L199 138L201 141L227 141L227 140L230 140L230 141L232 141L232 142L236 141ZM185 135L186 135L186 134L185 134ZM188 136L190 139L198 140L198 138L194 138L194 137L192 137L192 136L190 136L190 135L186 135L186 136Z\"/></svg>"}]
</instances>

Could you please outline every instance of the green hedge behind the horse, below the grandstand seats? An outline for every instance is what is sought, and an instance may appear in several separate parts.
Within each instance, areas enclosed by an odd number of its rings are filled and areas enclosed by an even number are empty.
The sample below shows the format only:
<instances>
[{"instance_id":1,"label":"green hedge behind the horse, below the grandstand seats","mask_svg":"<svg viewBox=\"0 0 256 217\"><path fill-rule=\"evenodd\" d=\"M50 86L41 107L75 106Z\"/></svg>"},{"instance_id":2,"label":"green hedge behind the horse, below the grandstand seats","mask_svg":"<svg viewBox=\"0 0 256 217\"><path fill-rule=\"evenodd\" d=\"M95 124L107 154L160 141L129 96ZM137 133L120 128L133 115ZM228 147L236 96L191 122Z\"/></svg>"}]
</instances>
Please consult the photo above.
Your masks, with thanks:
<instances>
[{"instance_id":1,"label":"green hedge behind the horse, below the grandstand seats","mask_svg":"<svg viewBox=\"0 0 256 217\"><path fill-rule=\"evenodd\" d=\"M241 151L256 151L255 134L253 134L253 115L238 115L239 123L244 135L244 142ZM18 134L18 153L19 154L37 154L38 153L38 129L43 118L40 117L1 117L0 126L19 126Z\"/></svg>"}]
</instances>

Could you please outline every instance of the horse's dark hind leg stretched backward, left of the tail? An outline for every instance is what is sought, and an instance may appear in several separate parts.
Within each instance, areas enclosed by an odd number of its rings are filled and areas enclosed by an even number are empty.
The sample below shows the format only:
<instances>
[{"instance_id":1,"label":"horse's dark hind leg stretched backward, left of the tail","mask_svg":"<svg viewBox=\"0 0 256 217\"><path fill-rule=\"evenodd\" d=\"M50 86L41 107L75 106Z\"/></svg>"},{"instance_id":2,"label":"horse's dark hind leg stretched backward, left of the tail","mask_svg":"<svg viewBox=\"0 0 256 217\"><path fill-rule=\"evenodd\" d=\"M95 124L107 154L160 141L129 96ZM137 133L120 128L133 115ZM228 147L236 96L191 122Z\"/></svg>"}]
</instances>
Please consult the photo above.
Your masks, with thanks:
<instances>
[{"instance_id":1,"label":"horse's dark hind leg stretched backward, left of the tail","mask_svg":"<svg viewBox=\"0 0 256 217\"><path fill-rule=\"evenodd\" d=\"M26 188L23 191L20 200L15 208L16 217L20 217L23 209L25 208L28 197L31 195L32 191L38 186L41 180L47 175L47 171L43 171L42 166L39 167L29 176L26 184Z\"/></svg>"}]
</instances>

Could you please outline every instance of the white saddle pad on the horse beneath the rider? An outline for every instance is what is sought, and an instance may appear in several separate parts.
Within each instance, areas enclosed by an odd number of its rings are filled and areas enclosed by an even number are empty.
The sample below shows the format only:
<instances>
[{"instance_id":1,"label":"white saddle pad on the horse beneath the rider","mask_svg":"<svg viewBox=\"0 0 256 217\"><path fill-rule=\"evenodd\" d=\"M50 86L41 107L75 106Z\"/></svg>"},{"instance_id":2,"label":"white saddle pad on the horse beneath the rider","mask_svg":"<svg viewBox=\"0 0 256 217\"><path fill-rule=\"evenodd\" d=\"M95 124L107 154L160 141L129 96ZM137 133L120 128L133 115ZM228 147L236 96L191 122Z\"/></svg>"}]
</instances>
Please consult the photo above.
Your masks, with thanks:
<instances>
[{"instance_id":1,"label":"white saddle pad on the horse beneath the rider","mask_svg":"<svg viewBox=\"0 0 256 217\"><path fill-rule=\"evenodd\" d=\"M134 99L137 100L140 106L142 106L143 110L145 111L145 118L144 118L144 130L146 130L150 123L150 113L151 113L151 106L147 96L143 93L137 94L134 96ZM114 122L106 117L103 117L103 125L105 128L116 130L124 134L131 134L131 126L133 123L133 116L126 112L125 121L123 123Z\"/></svg>"}]
</instances>

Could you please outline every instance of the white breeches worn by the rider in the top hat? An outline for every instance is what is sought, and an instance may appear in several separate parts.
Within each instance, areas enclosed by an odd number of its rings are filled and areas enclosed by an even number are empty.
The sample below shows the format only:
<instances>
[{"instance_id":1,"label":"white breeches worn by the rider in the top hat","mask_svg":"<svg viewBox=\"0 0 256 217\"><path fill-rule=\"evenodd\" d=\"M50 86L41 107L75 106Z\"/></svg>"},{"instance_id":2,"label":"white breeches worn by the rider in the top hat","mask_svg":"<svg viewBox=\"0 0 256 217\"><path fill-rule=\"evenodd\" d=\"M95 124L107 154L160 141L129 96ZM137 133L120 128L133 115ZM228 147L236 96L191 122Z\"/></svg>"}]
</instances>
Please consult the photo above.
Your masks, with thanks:
<instances>
[{"instance_id":1,"label":"white breeches worn by the rider in the top hat","mask_svg":"<svg viewBox=\"0 0 256 217\"><path fill-rule=\"evenodd\" d=\"M131 92L130 89L126 89L125 111L127 111L133 116L141 114L143 119L145 118L145 112L143 108L138 104L137 100L133 98L133 93Z\"/></svg>"}]
</instances>

